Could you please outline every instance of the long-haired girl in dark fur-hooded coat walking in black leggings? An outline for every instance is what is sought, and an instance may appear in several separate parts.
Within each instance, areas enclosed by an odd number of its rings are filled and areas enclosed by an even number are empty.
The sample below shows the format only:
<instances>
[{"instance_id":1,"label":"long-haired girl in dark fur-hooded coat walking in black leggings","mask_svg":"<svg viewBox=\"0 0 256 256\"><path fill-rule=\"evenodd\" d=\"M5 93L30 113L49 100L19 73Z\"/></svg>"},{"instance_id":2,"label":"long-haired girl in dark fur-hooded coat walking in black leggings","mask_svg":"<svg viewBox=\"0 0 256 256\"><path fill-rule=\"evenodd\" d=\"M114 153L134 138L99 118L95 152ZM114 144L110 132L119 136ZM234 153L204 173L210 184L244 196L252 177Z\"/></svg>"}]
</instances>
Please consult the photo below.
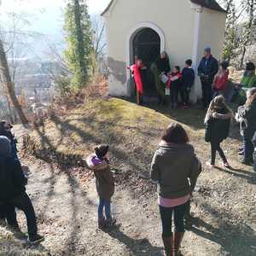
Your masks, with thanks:
<instances>
[{"instance_id":1,"label":"long-haired girl in dark fur-hooded coat walking in black leggings","mask_svg":"<svg viewBox=\"0 0 256 256\"><path fill-rule=\"evenodd\" d=\"M212 148L212 160L210 163L207 162L207 165L210 167L215 167L216 152L218 151L224 162L224 167L230 168L220 143L229 136L232 116L232 110L226 105L223 96L217 96L212 100L205 119L205 139L207 143L211 143Z\"/></svg>"}]
</instances>

